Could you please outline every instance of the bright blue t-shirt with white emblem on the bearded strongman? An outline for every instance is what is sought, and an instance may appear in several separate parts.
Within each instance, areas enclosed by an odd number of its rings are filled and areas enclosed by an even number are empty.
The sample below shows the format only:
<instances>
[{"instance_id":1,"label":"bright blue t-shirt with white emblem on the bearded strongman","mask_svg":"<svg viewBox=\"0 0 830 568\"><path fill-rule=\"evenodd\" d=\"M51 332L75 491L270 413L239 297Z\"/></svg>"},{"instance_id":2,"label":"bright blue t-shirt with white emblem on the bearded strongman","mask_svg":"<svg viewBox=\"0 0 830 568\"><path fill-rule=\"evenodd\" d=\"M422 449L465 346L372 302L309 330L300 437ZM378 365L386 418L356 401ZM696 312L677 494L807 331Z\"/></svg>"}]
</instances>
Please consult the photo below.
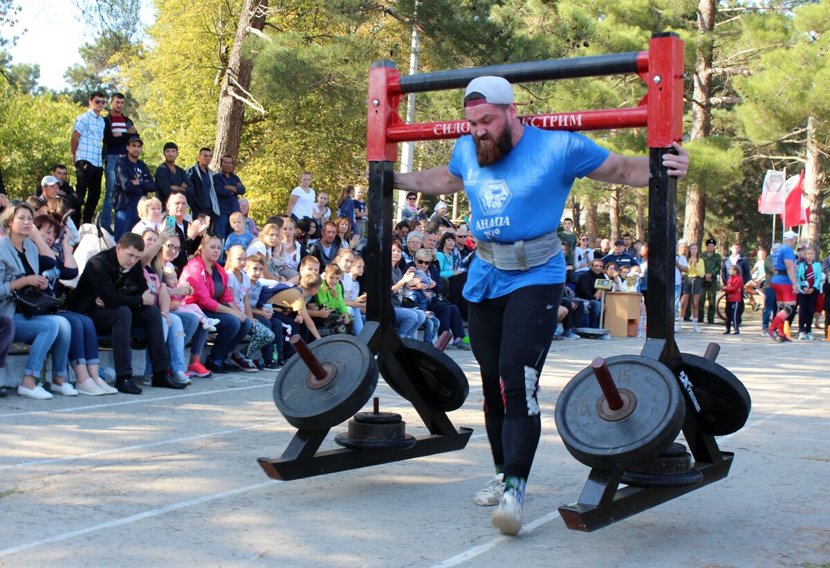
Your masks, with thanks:
<instances>
[{"instance_id":1,"label":"bright blue t-shirt with white emblem on the bearded strongman","mask_svg":"<svg viewBox=\"0 0 830 568\"><path fill-rule=\"evenodd\" d=\"M476 143L461 136L452 150L450 173L464 179L470 199L470 230L486 242L516 242L559 227L574 179L597 169L608 150L573 132L525 126L519 142L496 164L480 167ZM469 301L505 296L525 286L565 280L564 255L529 270L505 271L471 262L464 297Z\"/></svg>"}]
</instances>

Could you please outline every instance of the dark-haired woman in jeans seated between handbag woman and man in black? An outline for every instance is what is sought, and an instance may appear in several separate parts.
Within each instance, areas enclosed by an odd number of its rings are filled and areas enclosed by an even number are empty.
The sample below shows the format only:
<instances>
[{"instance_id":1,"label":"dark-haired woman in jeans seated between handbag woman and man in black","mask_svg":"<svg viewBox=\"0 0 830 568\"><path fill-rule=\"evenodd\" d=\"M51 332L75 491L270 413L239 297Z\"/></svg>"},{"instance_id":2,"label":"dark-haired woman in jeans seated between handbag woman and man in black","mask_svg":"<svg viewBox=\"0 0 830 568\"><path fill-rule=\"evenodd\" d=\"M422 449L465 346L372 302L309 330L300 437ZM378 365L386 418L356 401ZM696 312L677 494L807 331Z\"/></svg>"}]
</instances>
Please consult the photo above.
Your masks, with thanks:
<instances>
[{"instance_id":1,"label":"dark-haired woman in jeans seated between handbag woman and man in black","mask_svg":"<svg viewBox=\"0 0 830 568\"><path fill-rule=\"evenodd\" d=\"M59 278L71 280L78 276L78 265L75 257L72 256L71 233L63 231L62 242L57 240L61 234L61 225L49 215L41 215L35 218L35 227L41 233L43 241L56 254L56 267L42 272L49 282L48 290L56 295ZM56 250L58 249L58 250ZM66 299L66 295L64 295ZM100 355L98 354L98 333L95 331L95 324L89 316L78 314L74 311L60 311L59 314L69 322L71 327L72 340L69 344L69 364L75 370L77 383L76 390L80 394L97 396L100 394L115 394L118 389L106 384L101 379L98 371L100 369Z\"/></svg>"}]
</instances>

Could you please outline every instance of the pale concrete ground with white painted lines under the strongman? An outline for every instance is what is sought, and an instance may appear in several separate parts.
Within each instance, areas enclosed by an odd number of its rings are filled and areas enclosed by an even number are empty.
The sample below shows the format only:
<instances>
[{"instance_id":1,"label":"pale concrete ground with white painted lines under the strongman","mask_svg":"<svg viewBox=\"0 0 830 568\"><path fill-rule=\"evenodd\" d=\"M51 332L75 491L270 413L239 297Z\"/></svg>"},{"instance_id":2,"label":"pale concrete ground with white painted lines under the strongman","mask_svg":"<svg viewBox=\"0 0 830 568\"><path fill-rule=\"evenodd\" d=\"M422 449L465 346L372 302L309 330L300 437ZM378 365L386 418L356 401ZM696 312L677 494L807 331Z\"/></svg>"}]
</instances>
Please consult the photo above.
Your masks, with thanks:
<instances>
[{"instance_id":1,"label":"pale concrete ground with white painted lines under the strongman","mask_svg":"<svg viewBox=\"0 0 830 568\"><path fill-rule=\"evenodd\" d=\"M723 347L752 414L720 438L725 480L593 533L568 531L588 468L556 433L564 384L595 355L642 340L554 342L542 376L543 433L520 536L500 536L473 494L491 477L481 388L468 352L448 351L471 391L451 414L466 449L279 482L256 463L294 433L271 399L276 373L196 379L141 396L0 399L0 564L4 566L815 566L830 564L830 343L678 335ZM417 414L381 381L386 410ZM344 427L334 428L334 432ZM325 446L333 447L333 434Z\"/></svg>"}]
</instances>

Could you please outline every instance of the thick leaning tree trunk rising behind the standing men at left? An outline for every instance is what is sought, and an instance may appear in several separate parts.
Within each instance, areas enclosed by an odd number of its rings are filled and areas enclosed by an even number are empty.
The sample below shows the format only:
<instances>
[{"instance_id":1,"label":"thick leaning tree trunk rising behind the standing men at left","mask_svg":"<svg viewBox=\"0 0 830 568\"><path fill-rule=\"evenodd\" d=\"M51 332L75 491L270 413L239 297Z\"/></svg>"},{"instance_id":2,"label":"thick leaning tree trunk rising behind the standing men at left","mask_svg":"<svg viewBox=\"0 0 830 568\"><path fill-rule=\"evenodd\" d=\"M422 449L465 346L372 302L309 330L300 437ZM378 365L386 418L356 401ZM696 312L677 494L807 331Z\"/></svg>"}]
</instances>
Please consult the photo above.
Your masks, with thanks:
<instances>
[{"instance_id":1,"label":"thick leaning tree trunk rising behind the standing men at left","mask_svg":"<svg viewBox=\"0 0 830 568\"><path fill-rule=\"evenodd\" d=\"M242 42L248 37L249 29L261 31L265 27L266 7L268 0L245 0L239 14L237 35L233 38L231 55L222 77L222 91L219 92L216 144L213 146L213 159L210 164L210 168L215 172L219 171L223 155L227 154L237 160L239 154L239 141L245 116L245 103L240 99L250 100L247 91L251 89L253 69L253 61L242 59Z\"/></svg>"}]
</instances>

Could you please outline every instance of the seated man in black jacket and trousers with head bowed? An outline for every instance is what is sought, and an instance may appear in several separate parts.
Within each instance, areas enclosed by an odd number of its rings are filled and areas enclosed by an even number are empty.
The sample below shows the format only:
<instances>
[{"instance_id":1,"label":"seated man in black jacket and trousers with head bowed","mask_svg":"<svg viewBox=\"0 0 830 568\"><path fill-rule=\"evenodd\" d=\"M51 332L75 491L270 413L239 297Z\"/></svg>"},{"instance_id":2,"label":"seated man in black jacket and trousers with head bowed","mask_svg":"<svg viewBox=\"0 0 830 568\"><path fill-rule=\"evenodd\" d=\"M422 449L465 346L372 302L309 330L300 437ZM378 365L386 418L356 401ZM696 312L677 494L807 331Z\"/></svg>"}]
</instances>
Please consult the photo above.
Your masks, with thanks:
<instances>
[{"instance_id":1,"label":"seated man in black jacket and trousers with head bowed","mask_svg":"<svg viewBox=\"0 0 830 568\"><path fill-rule=\"evenodd\" d=\"M86 263L78 286L67 306L90 316L100 334L112 335L115 357L115 388L126 394L141 394L133 382L131 330L144 329L147 351L153 367L154 387L182 388L167 375L170 358L164 341L162 313L149 291L141 257L144 240L126 233L114 248L99 252Z\"/></svg>"}]
</instances>

